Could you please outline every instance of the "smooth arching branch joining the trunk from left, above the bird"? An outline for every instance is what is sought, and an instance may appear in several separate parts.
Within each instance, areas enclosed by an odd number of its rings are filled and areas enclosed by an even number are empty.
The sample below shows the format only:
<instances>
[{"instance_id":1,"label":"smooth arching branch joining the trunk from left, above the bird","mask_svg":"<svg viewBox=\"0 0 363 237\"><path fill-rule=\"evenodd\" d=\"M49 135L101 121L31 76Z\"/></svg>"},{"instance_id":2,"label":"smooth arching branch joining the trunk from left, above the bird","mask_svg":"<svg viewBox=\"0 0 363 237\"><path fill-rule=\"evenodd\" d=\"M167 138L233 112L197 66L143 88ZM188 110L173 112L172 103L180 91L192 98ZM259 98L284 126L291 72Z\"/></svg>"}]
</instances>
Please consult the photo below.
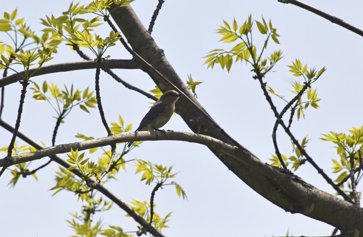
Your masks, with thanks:
<instances>
[{"instance_id":1,"label":"smooth arching branch joining the trunk from left, above the bird","mask_svg":"<svg viewBox=\"0 0 363 237\"><path fill-rule=\"evenodd\" d=\"M93 69L96 68L97 63L95 61L84 61L84 62L69 62L69 63L59 63L49 66L41 67L32 75L40 76L55 72L68 72L75 70L83 70L83 69ZM101 69L103 68L119 68L119 69L139 69L137 63L135 63L131 59L110 59L104 60L101 62ZM29 74L32 74L36 68L30 69ZM20 72L21 75L24 75L24 72ZM12 74L10 76L6 76L3 79L0 79L0 87L7 86L9 84L15 83L20 80L20 76Z\"/></svg>"}]
</instances>

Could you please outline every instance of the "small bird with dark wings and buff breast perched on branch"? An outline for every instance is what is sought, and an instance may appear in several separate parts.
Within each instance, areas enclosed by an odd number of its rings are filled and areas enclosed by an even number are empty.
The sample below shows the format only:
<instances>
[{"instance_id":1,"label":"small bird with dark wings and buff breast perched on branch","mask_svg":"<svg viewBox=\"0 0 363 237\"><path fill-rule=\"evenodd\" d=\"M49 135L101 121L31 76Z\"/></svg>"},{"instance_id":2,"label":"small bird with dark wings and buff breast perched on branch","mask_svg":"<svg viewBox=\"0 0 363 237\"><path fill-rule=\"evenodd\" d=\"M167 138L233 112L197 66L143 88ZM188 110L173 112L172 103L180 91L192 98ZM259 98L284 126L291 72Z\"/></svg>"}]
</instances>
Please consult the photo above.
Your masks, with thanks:
<instances>
[{"instance_id":1,"label":"small bird with dark wings and buff breast perched on branch","mask_svg":"<svg viewBox=\"0 0 363 237\"><path fill-rule=\"evenodd\" d=\"M183 95L177 91L171 90L165 92L158 101L150 108L145 117L141 120L137 131L158 130L164 126L171 118L175 110L175 102ZM130 147L133 142L129 142Z\"/></svg>"}]
</instances>

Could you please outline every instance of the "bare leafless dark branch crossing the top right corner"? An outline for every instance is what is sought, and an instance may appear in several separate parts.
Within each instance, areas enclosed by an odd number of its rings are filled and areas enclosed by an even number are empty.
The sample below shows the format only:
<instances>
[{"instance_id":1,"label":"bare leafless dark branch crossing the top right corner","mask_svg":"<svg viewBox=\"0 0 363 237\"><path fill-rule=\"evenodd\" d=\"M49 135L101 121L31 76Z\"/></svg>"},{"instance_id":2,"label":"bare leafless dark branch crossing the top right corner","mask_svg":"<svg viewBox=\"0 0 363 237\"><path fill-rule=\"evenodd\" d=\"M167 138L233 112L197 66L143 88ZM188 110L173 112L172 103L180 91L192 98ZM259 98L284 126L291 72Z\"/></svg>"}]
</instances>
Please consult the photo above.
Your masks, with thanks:
<instances>
[{"instance_id":1,"label":"bare leafless dark branch crossing the top right corner","mask_svg":"<svg viewBox=\"0 0 363 237\"><path fill-rule=\"evenodd\" d=\"M340 25L356 34L359 34L360 36L363 36L363 30L356 28L353 25L348 24L347 22L343 21L342 19L339 19L338 17L332 16L332 15L322 12L314 7L311 7L310 5L302 3L301 1L297 1L297 0L277 0L277 1L279 1L280 3L286 3L286 4L291 3L295 6L301 7L307 11L313 12L313 13L317 14L318 16L321 16L321 17L331 21L331 23Z\"/></svg>"}]
</instances>

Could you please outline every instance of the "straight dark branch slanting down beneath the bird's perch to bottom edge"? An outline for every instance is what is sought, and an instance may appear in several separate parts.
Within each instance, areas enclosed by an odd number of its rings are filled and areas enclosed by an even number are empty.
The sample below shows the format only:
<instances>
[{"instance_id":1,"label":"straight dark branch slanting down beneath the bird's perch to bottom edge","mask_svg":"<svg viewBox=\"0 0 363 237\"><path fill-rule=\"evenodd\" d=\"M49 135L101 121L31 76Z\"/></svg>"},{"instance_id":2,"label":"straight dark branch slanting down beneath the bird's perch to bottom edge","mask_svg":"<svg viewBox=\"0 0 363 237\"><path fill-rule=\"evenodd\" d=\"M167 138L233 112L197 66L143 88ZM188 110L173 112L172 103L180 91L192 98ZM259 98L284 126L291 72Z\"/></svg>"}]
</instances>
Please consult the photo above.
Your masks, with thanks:
<instances>
[{"instance_id":1,"label":"straight dark branch slanting down beneath the bird's perch to bottom edge","mask_svg":"<svg viewBox=\"0 0 363 237\"><path fill-rule=\"evenodd\" d=\"M13 133L14 128L10 126L9 124L5 123L3 120L0 119L0 126L8 130L9 132ZM28 143L29 145L35 147L38 150L41 150L43 147L30 138L26 137L23 133L18 132L18 137ZM70 165L66 161L64 161L62 158L58 157L57 155L50 155L49 158L55 162L57 162L59 165L68 168ZM73 174L77 175L79 178L82 178L82 173L79 170L71 170ZM90 182L94 182L93 180L89 180ZM148 232L150 232L152 235L156 237L164 237L163 234L159 233L158 230L153 228L151 225L148 224L148 222L143 219L142 216L140 216L137 212L132 210L126 203L124 203L121 199L118 199L117 196L112 194L109 190L107 190L102 185L98 185L95 189L100 191L103 195L105 195L107 198L112 200L114 203L116 203L121 209L123 209L127 214L129 214L137 223L143 226L144 229L146 229Z\"/></svg>"}]
</instances>

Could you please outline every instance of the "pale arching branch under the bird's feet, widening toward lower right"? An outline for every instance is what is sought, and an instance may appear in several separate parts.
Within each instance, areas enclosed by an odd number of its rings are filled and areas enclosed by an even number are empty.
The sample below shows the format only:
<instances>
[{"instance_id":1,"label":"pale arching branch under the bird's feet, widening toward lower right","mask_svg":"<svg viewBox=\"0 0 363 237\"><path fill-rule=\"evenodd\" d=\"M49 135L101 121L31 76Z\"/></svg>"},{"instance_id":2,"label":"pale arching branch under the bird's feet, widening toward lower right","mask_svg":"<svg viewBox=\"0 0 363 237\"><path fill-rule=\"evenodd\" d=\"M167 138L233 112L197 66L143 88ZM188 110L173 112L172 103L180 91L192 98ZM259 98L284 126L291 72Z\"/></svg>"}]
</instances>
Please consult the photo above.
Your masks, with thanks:
<instances>
[{"instance_id":1,"label":"pale arching branch under the bird's feet, widening toward lower right","mask_svg":"<svg viewBox=\"0 0 363 237\"><path fill-rule=\"evenodd\" d=\"M311 218L336 226L340 230L348 230L351 226L356 226L355 228L361 231L360 233L363 233L363 226L361 225L363 209L339 199L336 196L327 194L326 192L305 183L295 175L280 172L276 167L260 161L246 149L231 146L220 140L201 134L181 132L166 132L165 134L159 131L127 132L83 142L48 147L32 153L13 156L11 160L5 158L0 159L0 166L10 166L16 163L40 159L49 155L66 153L69 152L71 148L74 150L86 150L119 142L142 140L189 141L212 147L213 149L218 150L219 153L228 154L236 166L241 167L241 163L243 163L245 166L249 167L249 169L253 169L256 174L260 172L273 180L271 185L277 186L279 194L284 196L285 202L281 204L285 204L284 208L286 208L286 211L291 213L302 213ZM271 193L269 199L274 201L279 200L275 193ZM288 203L290 199L294 200L295 205L291 206ZM278 202L278 204L280 204L280 202ZM337 213L339 213L339 215L336 215Z\"/></svg>"}]
</instances>

